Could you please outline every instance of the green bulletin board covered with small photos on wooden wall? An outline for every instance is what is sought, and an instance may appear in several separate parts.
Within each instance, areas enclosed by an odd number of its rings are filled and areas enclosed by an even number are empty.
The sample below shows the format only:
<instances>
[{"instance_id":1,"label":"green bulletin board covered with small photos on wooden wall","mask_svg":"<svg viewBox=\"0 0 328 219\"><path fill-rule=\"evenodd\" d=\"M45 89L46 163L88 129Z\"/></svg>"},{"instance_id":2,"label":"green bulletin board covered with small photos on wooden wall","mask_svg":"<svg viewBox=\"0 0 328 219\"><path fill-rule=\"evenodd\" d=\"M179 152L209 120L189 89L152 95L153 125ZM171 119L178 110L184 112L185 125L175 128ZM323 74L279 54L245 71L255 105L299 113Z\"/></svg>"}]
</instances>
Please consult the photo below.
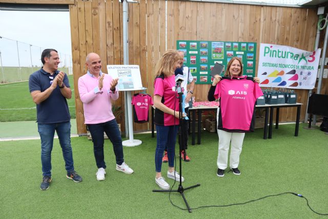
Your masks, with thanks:
<instances>
[{"instance_id":1,"label":"green bulletin board covered with small photos on wooden wall","mask_svg":"<svg viewBox=\"0 0 328 219\"><path fill-rule=\"evenodd\" d=\"M224 66L223 75L234 56L242 60L243 75L255 76L256 43L177 41L176 47L185 53L184 65L189 67L196 84L211 84L214 64L218 62Z\"/></svg>"}]
</instances>

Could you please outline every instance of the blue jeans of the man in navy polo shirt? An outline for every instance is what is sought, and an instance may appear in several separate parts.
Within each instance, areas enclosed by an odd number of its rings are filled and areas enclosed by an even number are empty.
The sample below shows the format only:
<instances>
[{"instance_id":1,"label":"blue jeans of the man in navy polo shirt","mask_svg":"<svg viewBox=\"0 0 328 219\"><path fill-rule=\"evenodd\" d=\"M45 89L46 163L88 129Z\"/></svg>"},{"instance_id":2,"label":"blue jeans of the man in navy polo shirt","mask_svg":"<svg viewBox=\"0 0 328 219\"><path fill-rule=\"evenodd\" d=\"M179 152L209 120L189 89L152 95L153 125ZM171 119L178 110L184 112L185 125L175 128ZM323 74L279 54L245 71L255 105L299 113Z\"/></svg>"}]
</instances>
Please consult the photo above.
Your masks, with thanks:
<instances>
[{"instance_id":1,"label":"blue jeans of the man in navy polo shirt","mask_svg":"<svg viewBox=\"0 0 328 219\"><path fill-rule=\"evenodd\" d=\"M65 169L67 173L74 171L73 154L71 147L71 123L37 124L41 138L41 163L44 176L51 176L51 151L55 131L59 138L59 144L63 151Z\"/></svg>"}]
</instances>

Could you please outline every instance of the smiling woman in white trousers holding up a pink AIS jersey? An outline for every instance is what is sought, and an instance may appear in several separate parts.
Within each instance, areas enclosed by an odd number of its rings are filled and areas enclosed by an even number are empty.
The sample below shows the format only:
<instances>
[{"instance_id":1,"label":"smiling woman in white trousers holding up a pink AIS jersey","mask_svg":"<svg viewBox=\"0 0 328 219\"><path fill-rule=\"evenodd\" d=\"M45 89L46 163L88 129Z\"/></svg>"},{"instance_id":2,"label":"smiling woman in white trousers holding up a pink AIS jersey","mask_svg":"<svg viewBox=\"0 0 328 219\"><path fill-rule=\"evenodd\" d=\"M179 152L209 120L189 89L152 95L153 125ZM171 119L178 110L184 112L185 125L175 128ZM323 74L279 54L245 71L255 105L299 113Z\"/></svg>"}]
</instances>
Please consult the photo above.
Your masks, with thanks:
<instances>
[{"instance_id":1,"label":"smiling woman in white trousers holding up a pink AIS jersey","mask_svg":"<svg viewBox=\"0 0 328 219\"><path fill-rule=\"evenodd\" d=\"M219 177L224 176L224 170L228 167L230 143L230 168L235 175L240 175L239 155L245 132L254 131L255 101L263 95L258 83L258 77L242 76L242 63L238 57L231 58L223 77L216 75L213 79L208 99L220 100L217 110Z\"/></svg>"}]
</instances>

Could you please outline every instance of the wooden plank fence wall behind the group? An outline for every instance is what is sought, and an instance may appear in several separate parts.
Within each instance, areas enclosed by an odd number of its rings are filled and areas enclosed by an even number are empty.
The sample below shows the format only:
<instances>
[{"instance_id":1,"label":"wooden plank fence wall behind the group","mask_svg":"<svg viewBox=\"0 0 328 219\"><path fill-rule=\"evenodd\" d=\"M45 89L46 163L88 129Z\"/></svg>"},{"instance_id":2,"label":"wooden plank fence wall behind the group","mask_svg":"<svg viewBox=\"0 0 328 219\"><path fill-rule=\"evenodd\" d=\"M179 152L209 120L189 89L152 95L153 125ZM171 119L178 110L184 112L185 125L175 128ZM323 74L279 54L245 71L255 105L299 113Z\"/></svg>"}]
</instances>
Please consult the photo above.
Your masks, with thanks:
<instances>
[{"instance_id":1,"label":"wooden plank fence wall behind the group","mask_svg":"<svg viewBox=\"0 0 328 219\"><path fill-rule=\"evenodd\" d=\"M154 66L161 54L176 47L177 40L256 42L257 48L260 43L271 43L312 51L316 12L315 8L140 0L139 4L129 4L129 64L140 66L142 85L152 95ZM85 133L77 80L86 73L89 52L100 55L104 72L107 64L123 64L122 5L117 0L77 0L70 5L70 21L77 129L78 133ZM208 89L209 85L196 85L196 101L206 101ZM308 90L297 93L298 102L306 105ZM120 93L115 104L124 109L122 96ZM296 109L281 110L280 121L295 121L295 114ZM123 121L121 125L124 126ZM134 130L145 131L149 127L135 124Z\"/></svg>"}]
</instances>

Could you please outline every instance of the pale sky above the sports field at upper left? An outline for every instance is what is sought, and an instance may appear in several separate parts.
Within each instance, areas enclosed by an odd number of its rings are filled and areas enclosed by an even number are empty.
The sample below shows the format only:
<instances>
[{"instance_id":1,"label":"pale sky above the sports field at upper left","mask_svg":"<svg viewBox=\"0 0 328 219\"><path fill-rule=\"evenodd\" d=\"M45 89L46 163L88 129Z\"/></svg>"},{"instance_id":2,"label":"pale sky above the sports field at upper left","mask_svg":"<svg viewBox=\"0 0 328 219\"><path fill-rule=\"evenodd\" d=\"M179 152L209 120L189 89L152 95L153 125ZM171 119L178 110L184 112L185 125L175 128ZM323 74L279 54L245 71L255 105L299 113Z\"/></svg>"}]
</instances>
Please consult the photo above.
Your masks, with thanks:
<instances>
[{"instance_id":1,"label":"pale sky above the sports field at upper left","mask_svg":"<svg viewBox=\"0 0 328 219\"><path fill-rule=\"evenodd\" d=\"M71 33L69 12L0 10L0 51L3 66L41 66L40 50L56 49L62 64L69 66ZM8 38L8 39L7 39ZM13 39L14 41L10 41ZM20 43L22 42L22 43ZM23 44L26 43L26 44ZM30 57L30 46L32 61ZM41 47L41 49L39 48Z\"/></svg>"}]
</instances>

